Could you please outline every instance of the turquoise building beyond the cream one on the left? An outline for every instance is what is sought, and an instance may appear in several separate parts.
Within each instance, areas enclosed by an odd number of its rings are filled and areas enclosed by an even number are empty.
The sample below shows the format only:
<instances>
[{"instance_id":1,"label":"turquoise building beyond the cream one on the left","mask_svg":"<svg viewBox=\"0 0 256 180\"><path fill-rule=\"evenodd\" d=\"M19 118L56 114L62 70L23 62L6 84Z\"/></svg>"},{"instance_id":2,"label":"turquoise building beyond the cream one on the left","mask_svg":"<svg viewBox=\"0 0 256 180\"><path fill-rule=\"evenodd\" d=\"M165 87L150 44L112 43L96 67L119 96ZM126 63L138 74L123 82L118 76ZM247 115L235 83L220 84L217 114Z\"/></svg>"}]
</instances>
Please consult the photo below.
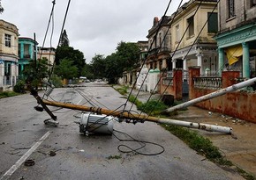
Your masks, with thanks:
<instances>
[{"instance_id":1,"label":"turquoise building beyond the cream one on the left","mask_svg":"<svg viewBox=\"0 0 256 180\"><path fill-rule=\"evenodd\" d=\"M19 38L19 78L23 77L23 71L29 61L34 60L34 55L37 55L36 52L34 54L34 49L37 51L37 45L38 43L31 38Z\"/></svg>"}]
</instances>

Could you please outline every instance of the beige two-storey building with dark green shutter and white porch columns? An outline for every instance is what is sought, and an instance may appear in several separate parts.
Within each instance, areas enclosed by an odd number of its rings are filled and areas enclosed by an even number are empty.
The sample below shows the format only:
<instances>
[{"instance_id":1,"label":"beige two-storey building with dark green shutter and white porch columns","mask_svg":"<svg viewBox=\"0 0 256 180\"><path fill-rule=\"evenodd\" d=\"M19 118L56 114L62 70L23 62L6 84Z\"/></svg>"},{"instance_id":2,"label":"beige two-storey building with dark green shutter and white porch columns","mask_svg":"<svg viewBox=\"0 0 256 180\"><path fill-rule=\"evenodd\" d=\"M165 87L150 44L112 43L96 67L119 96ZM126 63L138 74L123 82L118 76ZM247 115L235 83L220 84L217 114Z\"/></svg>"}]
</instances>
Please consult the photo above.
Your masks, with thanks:
<instances>
[{"instance_id":1,"label":"beige two-storey building with dark green shutter and white porch columns","mask_svg":"<svg viewBox=\"0 0 256 180\"><path fill-rule=\"evenodd\" d=\"M175 13L174 13L175 14ZM172 68L200 66L201 75L206 70L217 72L217 47L213 38L218 31L216 0L191 0L184 4L171 24Z\"/></svg>"}]
</instances>

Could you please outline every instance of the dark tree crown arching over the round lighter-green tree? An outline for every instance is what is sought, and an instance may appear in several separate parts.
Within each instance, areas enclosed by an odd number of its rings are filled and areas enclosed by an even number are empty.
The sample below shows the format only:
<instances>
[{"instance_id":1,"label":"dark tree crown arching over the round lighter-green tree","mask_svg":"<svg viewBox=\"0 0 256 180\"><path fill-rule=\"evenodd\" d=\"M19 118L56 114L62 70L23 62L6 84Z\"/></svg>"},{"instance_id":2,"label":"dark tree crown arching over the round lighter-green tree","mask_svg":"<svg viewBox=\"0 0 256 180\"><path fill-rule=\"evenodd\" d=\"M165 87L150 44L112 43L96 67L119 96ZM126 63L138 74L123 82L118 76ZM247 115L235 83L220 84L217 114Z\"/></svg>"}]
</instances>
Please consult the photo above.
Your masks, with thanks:
<instances>
[{"instance_id":1,"label":"dark tree crown arching over the round lighter-green tree","mask_svg":"<svg viewBox=\"0 0 256 180\"><path fill-rule=\"evenodd\" d=\"M69 59L73 61L72 65L75 65L78 68L77 77L81 76L83 68L86 64L84 59L84 54L78 49L73 47L57 47L56 48L56 65L59 65L64 59Z\"/></svg>"}]
</instances>

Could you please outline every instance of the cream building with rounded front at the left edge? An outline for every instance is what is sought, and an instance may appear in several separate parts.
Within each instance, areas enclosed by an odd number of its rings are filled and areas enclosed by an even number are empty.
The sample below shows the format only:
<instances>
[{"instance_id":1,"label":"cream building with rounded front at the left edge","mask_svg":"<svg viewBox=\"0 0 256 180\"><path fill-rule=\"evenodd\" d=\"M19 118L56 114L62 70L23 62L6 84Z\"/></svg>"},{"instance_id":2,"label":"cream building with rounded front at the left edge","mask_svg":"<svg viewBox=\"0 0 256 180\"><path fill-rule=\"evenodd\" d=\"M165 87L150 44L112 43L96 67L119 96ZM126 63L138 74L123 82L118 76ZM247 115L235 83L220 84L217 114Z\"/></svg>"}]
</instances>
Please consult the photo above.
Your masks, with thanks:
<instances>
[{"instance_id":1,"label":"cream building with rounded front at the left edge","mask_svg":"<svg viewBox=\"0 0 256 180\"><path fill-rule=\"evenodd\" d=\"M18 36L16 25L0 20L0 91L12 90L17 82Z\"/></svg>"}]
</instances>

